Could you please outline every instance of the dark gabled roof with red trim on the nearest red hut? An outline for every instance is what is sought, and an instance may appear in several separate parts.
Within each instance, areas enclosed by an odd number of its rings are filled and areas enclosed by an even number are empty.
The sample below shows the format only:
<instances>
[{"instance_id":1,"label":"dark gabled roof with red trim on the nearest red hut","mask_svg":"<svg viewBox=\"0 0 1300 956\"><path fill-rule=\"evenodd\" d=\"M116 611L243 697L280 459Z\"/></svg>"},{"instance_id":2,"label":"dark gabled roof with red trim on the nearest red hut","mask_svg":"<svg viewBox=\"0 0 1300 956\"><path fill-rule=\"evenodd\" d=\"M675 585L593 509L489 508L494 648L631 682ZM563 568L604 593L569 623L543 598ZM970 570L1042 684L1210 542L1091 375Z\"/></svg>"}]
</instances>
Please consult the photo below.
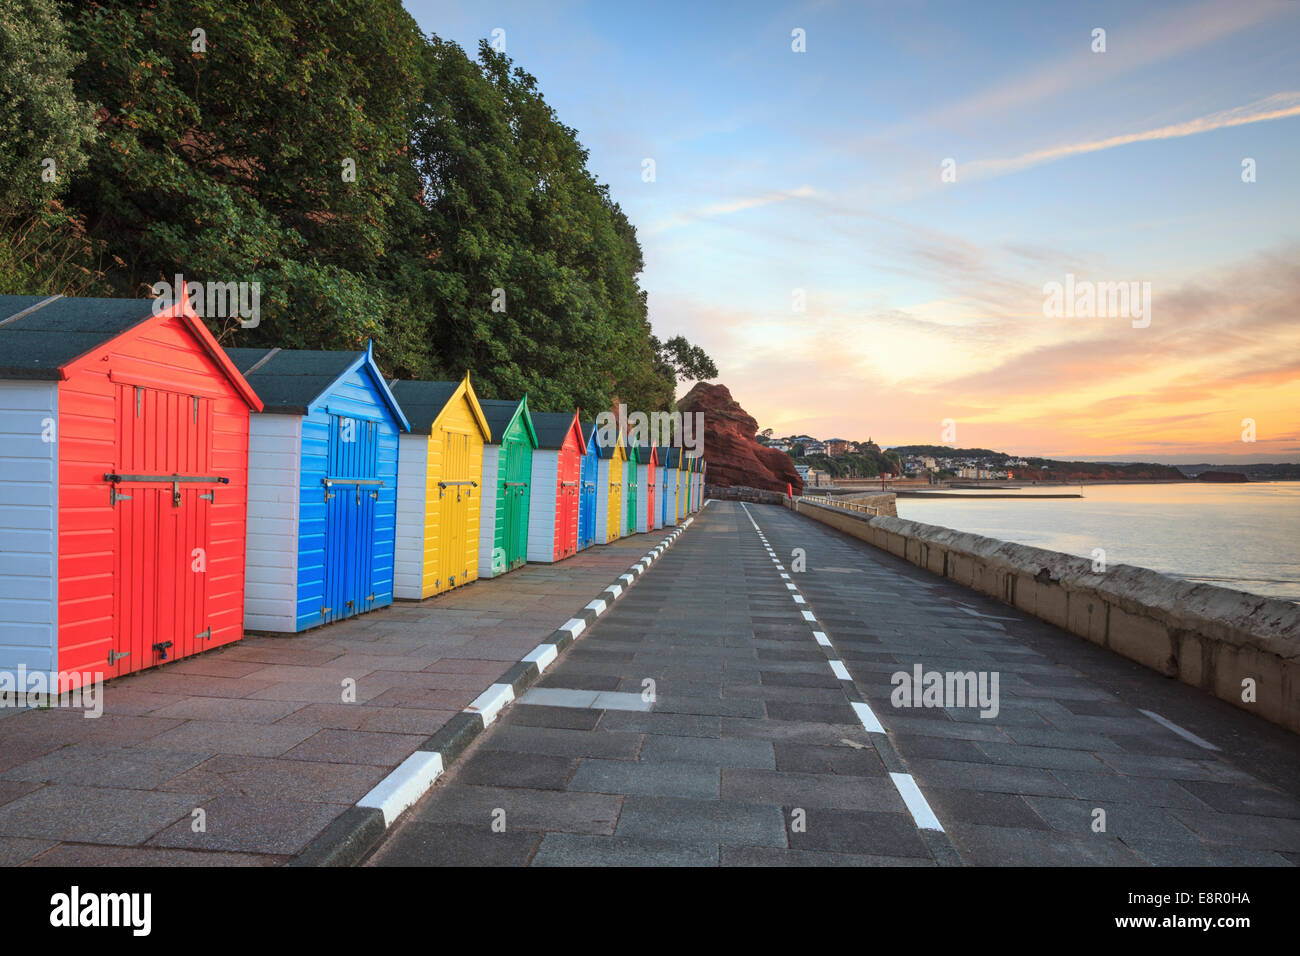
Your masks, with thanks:
<instances>
[{"instance_id":1,"label":"dark gabled roof with red trim on the nearest red hut","mask_svg":"<svg viewBox=\"0 0 1300 956\"><path fill-rule=\"evenodd\" d=\"M99 299L65 295L0 295L0 378L61 381L68 367L146 323L179 319L256 411L261 401L190 306L182 284L173 304L157 299Z\"/></svg>"}]
</instances>

